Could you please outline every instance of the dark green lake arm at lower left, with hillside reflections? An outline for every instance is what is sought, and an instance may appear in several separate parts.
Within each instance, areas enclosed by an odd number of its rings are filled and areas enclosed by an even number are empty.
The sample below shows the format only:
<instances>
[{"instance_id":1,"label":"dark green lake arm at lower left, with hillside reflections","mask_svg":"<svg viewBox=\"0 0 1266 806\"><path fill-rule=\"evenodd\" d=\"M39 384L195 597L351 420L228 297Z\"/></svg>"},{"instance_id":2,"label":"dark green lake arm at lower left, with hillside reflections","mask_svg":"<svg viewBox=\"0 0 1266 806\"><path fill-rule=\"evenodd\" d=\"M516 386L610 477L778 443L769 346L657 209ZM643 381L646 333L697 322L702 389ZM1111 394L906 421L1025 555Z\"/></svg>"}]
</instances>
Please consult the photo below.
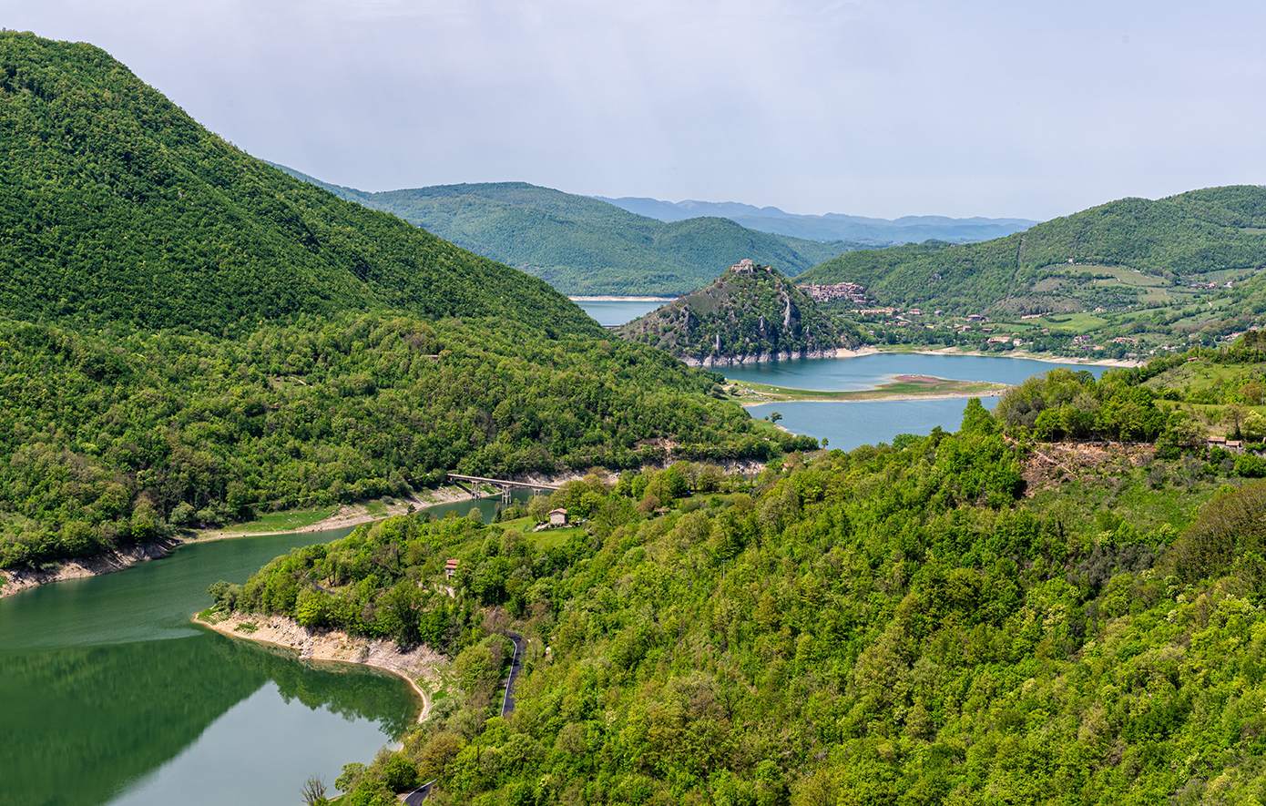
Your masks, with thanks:
<instances>
[{"instance_id":1,"label":"dark green lake arm at lower left, with hillside reflections","mask_svg":"<svg viewBox=\"0 0 1266 806\"><path fill-rule=\"evenodd\" d=\"M216 580L349 531L194 543L0 598L0 806L299 803L309 776L333 790L368 763L417 719L405 681L190 623Z\"/></svg>"}]
</instances>

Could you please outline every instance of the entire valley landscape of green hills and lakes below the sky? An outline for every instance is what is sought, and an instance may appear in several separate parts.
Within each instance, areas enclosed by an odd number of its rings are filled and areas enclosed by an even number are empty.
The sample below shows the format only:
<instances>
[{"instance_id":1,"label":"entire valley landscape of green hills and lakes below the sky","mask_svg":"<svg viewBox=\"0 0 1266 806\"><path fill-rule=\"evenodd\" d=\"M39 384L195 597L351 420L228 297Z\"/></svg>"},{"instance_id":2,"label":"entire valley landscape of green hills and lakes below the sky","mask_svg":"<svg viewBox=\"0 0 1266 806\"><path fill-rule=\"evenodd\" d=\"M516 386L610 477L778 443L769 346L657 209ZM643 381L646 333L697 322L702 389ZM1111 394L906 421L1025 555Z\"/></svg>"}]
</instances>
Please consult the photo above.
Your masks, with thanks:
<instances>
[{"instance_id":1,"label":"entire valley landscape of green hills and lakes below the sky","mask_svg":"<svg viewBox=\"0 0 1266 806\"><path fill-rule=\"evenodd\" d=\"M368 194L11 30L0 143L0 803L1266 798L1262 189Z\"/></svg>"}]
</instances>

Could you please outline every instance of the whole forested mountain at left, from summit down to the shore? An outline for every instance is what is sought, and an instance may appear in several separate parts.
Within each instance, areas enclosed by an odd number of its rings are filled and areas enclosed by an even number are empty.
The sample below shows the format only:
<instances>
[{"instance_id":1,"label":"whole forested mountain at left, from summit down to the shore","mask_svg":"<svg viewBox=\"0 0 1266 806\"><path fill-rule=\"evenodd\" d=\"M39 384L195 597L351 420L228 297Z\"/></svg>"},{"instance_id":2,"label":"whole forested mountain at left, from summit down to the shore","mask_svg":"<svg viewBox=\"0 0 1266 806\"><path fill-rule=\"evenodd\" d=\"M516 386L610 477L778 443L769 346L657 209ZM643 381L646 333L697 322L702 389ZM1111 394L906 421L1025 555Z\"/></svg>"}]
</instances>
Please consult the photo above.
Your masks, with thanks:
<instances>
[{"instance_id":1,"label":"whole forested mountain at left, from summit down to the shore","mask_svg":"<svg viewBox=\"0 0 1266 806\"><path fill-rule=\"evenodd\" d=\"M0 33L0 566L447 469L791 444L719 376L253 159L97 48Z\"/></svg>"}]
</instances>

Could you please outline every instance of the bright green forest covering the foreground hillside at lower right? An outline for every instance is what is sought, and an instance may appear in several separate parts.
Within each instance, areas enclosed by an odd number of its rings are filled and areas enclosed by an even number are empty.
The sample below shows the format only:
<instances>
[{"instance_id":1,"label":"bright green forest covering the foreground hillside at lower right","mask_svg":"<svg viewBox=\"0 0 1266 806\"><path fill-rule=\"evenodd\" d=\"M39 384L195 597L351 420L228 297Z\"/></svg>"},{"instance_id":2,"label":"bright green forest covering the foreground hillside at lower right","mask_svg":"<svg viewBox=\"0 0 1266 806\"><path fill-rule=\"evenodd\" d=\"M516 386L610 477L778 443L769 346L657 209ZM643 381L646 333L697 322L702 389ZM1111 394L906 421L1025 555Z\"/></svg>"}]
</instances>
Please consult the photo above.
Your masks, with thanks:
<instances>
[{"instance_id":1,"label":"bright green forest covering the foreground hillside at lower right","mask_svg":"<svg viewBox=\"0 0 1266 806\"><path fill-rule=\"evenodd\" d=\"M344 768L349 806L432 778L437 803L1263 797L1266 482L1203 442L1004 428L972 401L955 434L755 480L591 476L551 502L586 519L557 538L410 516L216 593L451 653L403 749ZM530 643L503 719L509 629Z\"/></svg>"}]
</instances>

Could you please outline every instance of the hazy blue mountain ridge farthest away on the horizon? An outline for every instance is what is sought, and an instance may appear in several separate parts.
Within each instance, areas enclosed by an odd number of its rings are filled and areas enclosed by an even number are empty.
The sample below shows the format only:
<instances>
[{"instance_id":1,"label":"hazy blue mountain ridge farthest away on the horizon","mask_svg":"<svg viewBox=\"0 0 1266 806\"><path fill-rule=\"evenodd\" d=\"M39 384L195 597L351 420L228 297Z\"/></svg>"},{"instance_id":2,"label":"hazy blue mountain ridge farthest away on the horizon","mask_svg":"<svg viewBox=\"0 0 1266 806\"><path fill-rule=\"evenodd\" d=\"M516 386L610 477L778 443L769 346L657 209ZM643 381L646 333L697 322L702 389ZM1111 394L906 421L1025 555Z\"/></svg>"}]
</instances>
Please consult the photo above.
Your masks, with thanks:
<instances>
[{"instance_id":1,"label":"hazy blue mountain ridge farthest away on the horizon","mask_svg":"<svg viewBox=\"0 0 1266 806\"><path fill-rule=\"evenodd\" d=\"M871 245L890 243L922 243L937 239L952 243L970 243L1000 238L1037 224L1028 219L953 219L942 215L906 215L899 219L875 219L861 215L798 215L777 208L757 208L734 201L660 201L624 196L608 199L594 196L618 208L660 219L681 221L696 216L722 216L748 229L776 233L810 240L853 240Z\"/></svg>"}]
</instances>

